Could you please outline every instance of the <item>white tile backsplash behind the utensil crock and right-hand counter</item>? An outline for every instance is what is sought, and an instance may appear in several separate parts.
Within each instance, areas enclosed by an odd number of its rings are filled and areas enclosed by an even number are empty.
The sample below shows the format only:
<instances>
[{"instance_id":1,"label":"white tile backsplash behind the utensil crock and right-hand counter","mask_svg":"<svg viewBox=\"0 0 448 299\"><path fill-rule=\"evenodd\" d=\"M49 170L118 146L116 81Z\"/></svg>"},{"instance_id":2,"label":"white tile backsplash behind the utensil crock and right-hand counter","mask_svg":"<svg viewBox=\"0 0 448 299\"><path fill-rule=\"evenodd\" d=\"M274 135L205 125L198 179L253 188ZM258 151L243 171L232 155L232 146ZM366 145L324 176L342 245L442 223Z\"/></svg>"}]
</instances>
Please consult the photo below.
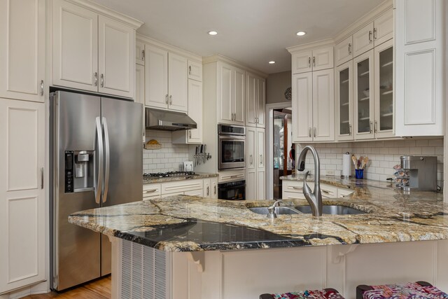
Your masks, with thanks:
<instances>
[{"instance_id":1,"label":"white tile backsplash behind the utensil crock and right-hand counter","mask_svg":"<svg viewBox=\"0 0 448 299\"><path fill-rule=\"evenodd\" d=\"M307 144L297 144L301 147ZM393 141L364 141L337 144L312 144L321 159L321 169L334 170L340 175L342 170L342 155L347 151L367 156L370 162L364 171L365 179L385 181L393 177L394 165L400 164L401 155L435 155L437 156L437 185L443 188L443 139L406 139ZM311 155L307 155L306 167L313 172L314 162ZM354 167L351 170L354 176Z\"/></svg>"}]
</instances>

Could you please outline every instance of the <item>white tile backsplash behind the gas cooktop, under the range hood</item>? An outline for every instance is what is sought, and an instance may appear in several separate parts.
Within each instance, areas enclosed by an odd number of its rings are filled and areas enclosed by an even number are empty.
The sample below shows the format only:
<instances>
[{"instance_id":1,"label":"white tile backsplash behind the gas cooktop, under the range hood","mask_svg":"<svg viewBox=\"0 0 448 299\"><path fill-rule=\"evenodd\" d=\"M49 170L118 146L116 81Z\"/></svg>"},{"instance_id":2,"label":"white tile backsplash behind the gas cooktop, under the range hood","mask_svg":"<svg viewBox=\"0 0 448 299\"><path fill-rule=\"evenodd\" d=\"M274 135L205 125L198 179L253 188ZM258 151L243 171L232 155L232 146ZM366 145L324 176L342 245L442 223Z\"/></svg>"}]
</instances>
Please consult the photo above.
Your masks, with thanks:
<instances>
[{"instance_id":1,"label":"white tile backsplash behind the gas cooktop, under the range hood","mask_svg":"<svg viewBox=\"0 0 448 299\"><path fill-rule=\"evenodd\" d=\"M155 139L162 144L157 150L143 150L143 172L176 172L188 160L188 144L172 144L172 132L146 131L146 141Z\"/></svg>"}]
</instances>

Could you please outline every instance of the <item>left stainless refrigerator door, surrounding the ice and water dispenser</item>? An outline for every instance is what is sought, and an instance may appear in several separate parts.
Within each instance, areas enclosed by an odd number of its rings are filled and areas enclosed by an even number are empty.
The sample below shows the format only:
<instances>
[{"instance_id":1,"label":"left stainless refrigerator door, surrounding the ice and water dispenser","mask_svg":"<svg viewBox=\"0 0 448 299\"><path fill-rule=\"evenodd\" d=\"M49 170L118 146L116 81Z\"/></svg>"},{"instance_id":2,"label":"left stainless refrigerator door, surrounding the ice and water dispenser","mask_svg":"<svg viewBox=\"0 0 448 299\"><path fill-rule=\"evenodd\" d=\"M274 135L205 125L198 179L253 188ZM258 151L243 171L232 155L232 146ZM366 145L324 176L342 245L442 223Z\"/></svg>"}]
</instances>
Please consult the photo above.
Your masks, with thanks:
<instances>
[{"instance_id":1,"label":"left stainless refrigerator door, surrounding the ice and water dispenser","mask_svg":"<svg viewBox=\"0 0 448 299\"><path fill-rule=\"evenodd\" d=\"M69 214L99 207L93 190L65 193L65 151L95 151L96 120L101 99L72 92L56 92L53 98L53 277L57 291L100 276L100 238L97 232L68 222ZM94 160L99 160L97 157ZM94 165L94 181L97 181Z\"/></svg>"}]
</instances>

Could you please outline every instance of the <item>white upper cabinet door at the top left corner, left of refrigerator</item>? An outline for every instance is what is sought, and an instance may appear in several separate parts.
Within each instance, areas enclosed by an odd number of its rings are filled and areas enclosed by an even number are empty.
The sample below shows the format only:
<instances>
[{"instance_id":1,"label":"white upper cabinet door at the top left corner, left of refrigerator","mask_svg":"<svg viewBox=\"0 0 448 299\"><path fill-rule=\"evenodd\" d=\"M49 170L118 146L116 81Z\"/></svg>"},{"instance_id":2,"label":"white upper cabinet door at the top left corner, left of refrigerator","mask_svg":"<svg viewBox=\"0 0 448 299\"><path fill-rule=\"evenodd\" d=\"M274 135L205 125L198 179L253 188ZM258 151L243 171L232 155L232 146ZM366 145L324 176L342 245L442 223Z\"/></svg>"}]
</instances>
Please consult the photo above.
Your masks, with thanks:
<instances>
[{"instance_id":1,"label":"white upper cabinet door at the top left corner, left of refrigerator","mask_svg":"<svg viewBox=\"0 0 448 299\"><path fill-rule=\"evenodd\" d=\"M44 102L45 0L1 0L0 36L0 97Z\"/></svg>"}]
</instances>

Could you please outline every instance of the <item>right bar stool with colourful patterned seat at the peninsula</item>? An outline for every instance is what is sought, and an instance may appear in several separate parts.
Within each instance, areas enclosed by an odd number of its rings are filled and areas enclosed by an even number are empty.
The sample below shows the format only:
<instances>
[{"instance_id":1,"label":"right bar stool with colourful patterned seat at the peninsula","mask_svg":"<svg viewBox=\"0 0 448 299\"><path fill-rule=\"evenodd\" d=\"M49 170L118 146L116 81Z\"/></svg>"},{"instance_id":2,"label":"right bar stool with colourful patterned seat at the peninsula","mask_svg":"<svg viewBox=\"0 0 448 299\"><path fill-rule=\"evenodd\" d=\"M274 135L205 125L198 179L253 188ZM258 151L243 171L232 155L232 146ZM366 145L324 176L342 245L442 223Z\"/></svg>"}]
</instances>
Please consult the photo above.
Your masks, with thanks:
<instances>
[{"instance_id":1,"label":"right bar stool with colourful patterned seat at the peninsula","mask_svg":"<svg viewBox=\"0 0 448 299\"><path fill-rule=\"evenodd\" d=\"M356 286L356 299L402 299L402 298L448 298L448 294L426 281L407 284L384 284L379 286Z\"/></svg>"}]
</instances>

